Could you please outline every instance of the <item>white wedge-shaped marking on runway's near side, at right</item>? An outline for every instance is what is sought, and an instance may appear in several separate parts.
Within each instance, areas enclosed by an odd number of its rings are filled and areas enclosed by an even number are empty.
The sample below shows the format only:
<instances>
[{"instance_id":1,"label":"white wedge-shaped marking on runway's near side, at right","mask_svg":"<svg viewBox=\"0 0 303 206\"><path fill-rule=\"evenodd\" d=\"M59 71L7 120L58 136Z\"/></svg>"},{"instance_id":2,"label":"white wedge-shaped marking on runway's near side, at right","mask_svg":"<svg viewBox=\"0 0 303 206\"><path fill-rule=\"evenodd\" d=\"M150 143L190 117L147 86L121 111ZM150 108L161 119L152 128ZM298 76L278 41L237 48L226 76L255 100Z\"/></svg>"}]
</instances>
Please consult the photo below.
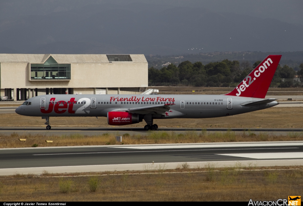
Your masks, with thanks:
<instances>
[{"instance_id":1,"label":"white wedge-shaped marking on runway's near side, at right","mask_svg":"<svg viewBox=\"0 0 303 206\"><path fill-rule=\"evenodd\" d=\"M275 152L275 153L239 153L239 154L217 154L234 157L247 157L253 159L291 159L303 158L303 152Z\"/></svg>"}]
</instances>

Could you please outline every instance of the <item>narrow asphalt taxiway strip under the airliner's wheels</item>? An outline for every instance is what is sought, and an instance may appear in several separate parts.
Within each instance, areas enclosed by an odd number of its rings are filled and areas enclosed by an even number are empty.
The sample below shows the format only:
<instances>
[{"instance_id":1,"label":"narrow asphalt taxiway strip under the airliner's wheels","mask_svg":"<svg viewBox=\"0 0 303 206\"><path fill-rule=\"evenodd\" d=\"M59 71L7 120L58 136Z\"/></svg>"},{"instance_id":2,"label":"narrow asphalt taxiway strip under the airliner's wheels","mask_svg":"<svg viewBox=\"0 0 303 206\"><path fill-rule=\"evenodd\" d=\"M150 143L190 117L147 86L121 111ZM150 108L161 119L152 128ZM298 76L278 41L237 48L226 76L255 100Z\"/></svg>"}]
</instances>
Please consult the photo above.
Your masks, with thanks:
<instances>
[{"instance_id":1,"label":"narrow asphalt taxiway strip under the airliner's wheels","mask_svg":"<svg viewBox=\"0 0 303 206\"><path fill-rule=\"evenodd\" d=\"M268 132L272 135L288 135L293 132L303 132L303 128L193 128L193 127L159 127L155 132L175 132L177 134L186 133L189 131L201 132L227 132L233 131L236 133L254 132L255 134ZM150 131L145 131L142 127L59 127L52 126L52 129L47 130L45 127L0 127L0 134L10 135L17 134L42 134L51 135L102 135L105 133L122 136L125 133L130 135L146 135Z\"/></svg>"}]
</instances>

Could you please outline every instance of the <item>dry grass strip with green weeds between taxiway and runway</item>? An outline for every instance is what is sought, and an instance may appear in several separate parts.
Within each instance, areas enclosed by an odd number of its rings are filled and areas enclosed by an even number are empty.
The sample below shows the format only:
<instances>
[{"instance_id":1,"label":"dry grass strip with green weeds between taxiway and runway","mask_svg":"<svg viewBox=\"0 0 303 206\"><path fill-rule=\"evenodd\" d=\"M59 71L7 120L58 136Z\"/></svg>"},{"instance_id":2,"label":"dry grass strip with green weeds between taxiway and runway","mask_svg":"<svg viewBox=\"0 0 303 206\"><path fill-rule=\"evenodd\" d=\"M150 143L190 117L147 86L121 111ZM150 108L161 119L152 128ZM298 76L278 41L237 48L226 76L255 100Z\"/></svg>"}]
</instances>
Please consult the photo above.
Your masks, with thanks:
<instances>
[{"instance_id":1,"label":"dry grass strip with green weeds between taxiway and runway","mask_svg":"<svg viewBox=\"0 0 303 206\"><path fill-rule=\"evenodd\" d=\"M39 135L39 134L17 134L1 135L0 148L13 147L43 147L43 146L82 146L82 145L115 145L115 144L154 144L154 143L192 143L192 142L253 142L253 141L295 141L303 140L302 132L289 132L287 135L272 135L267 132L255 134L251 131L244 132L206 132L202 130L186 131L176 134L175 132L149 131L143 135L122 134L122 142L116 142L115 136L121 134L102 135ZM19 141L26 139L26 141ZM45 140L52 140L47 143Z\"/></svg>"}]
</instances>

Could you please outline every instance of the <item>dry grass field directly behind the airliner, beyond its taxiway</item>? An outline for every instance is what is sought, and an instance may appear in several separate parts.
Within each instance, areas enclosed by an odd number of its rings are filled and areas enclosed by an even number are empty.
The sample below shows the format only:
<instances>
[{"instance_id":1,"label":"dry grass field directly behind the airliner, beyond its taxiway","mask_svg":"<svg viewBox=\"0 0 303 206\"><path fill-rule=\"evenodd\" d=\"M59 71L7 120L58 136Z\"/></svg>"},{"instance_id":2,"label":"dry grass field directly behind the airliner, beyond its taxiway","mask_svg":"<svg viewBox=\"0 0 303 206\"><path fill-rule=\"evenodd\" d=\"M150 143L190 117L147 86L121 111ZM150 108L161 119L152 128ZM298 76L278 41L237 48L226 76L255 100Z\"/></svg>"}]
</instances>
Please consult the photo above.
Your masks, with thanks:
<instances>
[{"instance_id":1,"label":"dry grass field directly behind the airliner, beyond its taxiway","mask_svg":"<svg viewBox=\"0 0 303 206\"><path fill-rule=\"evenodd\" d=\"M300 127L303 122L303 107L274 107L235 116L208 119L155 119L160 127ZM0 125L5 126L42 126L45 119L41 117L22 116L18 114L0 114ZM106 117L50 117L52 126L109 126ZM145 122L124 127L144 127ZM115 126L109 126L115 127Z\"/></svg>"}]
</instances>

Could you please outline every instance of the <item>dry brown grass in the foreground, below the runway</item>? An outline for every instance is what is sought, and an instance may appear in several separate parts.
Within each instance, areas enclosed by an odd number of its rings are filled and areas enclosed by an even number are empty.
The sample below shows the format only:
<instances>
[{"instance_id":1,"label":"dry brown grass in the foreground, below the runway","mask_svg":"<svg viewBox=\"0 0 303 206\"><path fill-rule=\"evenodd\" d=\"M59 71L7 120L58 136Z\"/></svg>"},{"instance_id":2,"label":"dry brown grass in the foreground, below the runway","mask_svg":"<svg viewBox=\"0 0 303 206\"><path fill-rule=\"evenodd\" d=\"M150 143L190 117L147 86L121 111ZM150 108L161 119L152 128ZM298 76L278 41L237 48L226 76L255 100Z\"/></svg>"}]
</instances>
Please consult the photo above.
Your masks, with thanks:
<instances>
[{"instance_id":1,"label":"dry brown grass in the foreground, below the runway","mask_svg":"<svg viewBox=\"0 0 303 206\"><path fill-rule=\"evenodd\" d=\"M137 171L141 174L2 177L0 201L277 200L303 189L302 167L258 169L238 165L214 169L205 165L196 169ZM91 190L92 179L98 190Z\"/></svg>"}]
</instances>

